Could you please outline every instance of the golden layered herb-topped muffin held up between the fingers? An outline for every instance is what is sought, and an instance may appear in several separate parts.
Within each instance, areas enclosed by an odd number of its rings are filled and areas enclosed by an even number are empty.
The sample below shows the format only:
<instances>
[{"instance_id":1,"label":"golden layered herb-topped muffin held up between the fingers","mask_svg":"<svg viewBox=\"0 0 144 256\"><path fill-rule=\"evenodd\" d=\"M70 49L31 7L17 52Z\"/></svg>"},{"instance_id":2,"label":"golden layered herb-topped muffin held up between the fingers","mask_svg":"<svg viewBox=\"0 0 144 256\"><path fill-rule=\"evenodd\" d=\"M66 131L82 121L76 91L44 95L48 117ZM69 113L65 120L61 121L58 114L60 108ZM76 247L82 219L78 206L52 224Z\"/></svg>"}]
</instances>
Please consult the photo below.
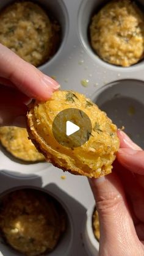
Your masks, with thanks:
<instances>
[{"instance_id":1,"label":"golden layered herb-topped muffin held up between the fingers","mask_svg":"<svg viewBox=\"0 0 144 256\"><path fill-rule=\"evenodd\" d=\"M80 114L84 112L92 124L92 132L88 132L87 141L80 147L62 145L52 132L55 118L66 109L73 109L73 120L77 119L74 109L76 112L78 109ZM68 120L67 116L63 118ZM84 125L86 129L87 123ZM59 133L60 123L57 122L55 126ZM54 92L48 101L33 101L29 105L27 131L35 147L45 155L46 161L72 174L90 178L98 178L111 172L120 146L117 126L106 113L84 95L67 90Z\"/></svg>"}]
</instances>

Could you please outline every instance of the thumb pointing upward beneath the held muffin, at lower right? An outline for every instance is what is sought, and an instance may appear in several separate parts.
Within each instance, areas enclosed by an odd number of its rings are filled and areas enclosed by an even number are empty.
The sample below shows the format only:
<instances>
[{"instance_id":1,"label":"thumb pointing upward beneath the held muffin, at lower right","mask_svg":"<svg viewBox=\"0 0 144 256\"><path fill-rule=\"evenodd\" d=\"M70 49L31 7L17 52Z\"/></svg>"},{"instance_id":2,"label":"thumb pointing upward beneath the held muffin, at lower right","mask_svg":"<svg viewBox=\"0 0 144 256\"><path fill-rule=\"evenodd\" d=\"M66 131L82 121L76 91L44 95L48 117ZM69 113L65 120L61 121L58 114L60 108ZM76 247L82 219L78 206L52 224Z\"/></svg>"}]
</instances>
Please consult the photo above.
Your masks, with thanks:
<instances>
[{"instance_id":1,"label":"thumb pointing upward beneath the held muffin, at lower right","mask_svg":"<svg viewBox=\"0 0 144 256\"><path fill-rule=\"evenodd\" d=\"M99 213L99 255L130 255L137 236L117 174L90 180ZM126 250L128 252L126 253Z\"/></svg>"}]
</instances>

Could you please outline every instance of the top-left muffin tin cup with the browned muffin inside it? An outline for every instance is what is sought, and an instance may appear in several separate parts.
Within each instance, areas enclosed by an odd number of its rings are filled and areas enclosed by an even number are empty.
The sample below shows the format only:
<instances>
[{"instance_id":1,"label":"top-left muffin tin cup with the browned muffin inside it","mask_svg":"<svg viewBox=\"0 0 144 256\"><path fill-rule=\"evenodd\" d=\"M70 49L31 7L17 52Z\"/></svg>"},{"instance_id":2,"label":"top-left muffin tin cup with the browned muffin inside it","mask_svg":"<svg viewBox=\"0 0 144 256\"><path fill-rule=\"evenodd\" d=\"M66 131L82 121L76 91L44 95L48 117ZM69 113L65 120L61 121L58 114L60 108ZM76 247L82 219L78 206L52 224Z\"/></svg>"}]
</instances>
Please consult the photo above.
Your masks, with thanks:
<instances>
[{"instance_id":1,"label":"top-left muffin tin cup with the browned muffin inside it","mask_svg":"<svg viewBox=\"0 0 144 256\"><path fill-rule=\"evenodd\" d=\"M57 55L65 41L68 24L67 9L62 1L8 0L1 1L0 9L1 43L36 67Z\"/></svg>"}]
</instances>

